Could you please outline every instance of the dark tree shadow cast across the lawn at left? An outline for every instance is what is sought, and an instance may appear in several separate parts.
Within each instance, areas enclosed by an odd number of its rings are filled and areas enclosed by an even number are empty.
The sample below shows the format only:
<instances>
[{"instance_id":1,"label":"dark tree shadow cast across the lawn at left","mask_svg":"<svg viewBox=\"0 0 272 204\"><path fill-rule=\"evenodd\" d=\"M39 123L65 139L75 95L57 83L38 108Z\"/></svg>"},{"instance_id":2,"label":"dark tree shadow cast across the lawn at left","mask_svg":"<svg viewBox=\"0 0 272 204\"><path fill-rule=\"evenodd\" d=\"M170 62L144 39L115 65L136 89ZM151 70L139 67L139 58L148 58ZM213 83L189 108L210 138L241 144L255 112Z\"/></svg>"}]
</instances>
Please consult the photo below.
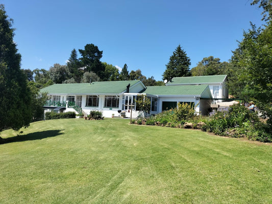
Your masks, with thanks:
<instances>
[{"instance_id":1,"label":"dark tree shadow cast across the lawn at left","mask_svg":"<svg viewBox=\"0 0 272 204\"><path fill-rule=\"evenodd\" d=\"M18 135L9 138L0 138L0 144L6 144L11 142L22 142L28 140L41 140L47 137L55 137L58 135L62 135L61 130L53 130L53 131L41 131L35 133L29 133L26 135Z\"/></svg>"}]
</instances>

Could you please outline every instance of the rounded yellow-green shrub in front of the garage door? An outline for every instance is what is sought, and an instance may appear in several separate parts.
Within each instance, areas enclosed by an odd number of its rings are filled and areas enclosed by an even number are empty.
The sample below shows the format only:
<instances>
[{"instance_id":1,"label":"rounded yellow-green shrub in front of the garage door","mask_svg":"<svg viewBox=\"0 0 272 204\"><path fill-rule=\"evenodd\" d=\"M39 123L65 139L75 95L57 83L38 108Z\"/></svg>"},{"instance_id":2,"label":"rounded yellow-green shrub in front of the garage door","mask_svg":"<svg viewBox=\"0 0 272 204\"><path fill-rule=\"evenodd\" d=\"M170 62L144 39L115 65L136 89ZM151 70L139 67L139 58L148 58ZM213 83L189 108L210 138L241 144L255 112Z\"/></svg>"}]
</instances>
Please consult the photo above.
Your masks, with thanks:
<instances>
[{"instance_id":1,"label":"rounded yellow-green shrub in front of the garage door","mask_svg":"<svg viewBox=\"0 0 272 204\"><path fill-rule=\"evenodd\" d=\"M178 107L173 111L177 121L188 120L195 114L194 106L190 103L178 103Z\"/></svg>"}]
</instances>

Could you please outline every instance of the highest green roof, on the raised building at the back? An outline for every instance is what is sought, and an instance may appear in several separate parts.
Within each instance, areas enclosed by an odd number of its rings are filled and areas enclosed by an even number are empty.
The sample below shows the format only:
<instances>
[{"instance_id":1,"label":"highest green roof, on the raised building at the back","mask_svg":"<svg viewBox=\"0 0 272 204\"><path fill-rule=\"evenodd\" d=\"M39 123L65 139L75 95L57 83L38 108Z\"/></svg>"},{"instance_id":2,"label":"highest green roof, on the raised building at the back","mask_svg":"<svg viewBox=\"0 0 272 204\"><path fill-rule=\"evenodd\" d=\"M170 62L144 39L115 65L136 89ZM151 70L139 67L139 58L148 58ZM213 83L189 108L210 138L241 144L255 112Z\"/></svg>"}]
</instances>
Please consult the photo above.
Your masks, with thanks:
<instances>
[{"instance_id":1,"label":"highest green roof, on the raised building at the back","mask_svg":"<svg viewBox=\"0 0 272 204\"><path fill-rule=\"evenodd\" d=\"M204 83L222 83L227 75L212 75L212 76L199 76L199 77L175 77L168 82L171 84L204 84Z\"/></svg>"}]
</instances>

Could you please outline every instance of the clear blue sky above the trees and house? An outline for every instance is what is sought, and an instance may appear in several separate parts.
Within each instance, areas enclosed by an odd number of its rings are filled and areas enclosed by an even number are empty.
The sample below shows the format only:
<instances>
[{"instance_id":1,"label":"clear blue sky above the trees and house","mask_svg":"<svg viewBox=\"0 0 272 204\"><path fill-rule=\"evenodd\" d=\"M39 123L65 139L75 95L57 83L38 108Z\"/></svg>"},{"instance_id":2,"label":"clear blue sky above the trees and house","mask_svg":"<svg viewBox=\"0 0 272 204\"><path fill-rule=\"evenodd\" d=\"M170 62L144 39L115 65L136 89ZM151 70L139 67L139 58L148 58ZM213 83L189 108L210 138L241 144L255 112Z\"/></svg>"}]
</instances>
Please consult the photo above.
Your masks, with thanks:
<instances>
[{"instance_id":1,"label":"clear blue sky above the trees and house","mask_svg":"<svg viewBox=\"0 0 272 204\"><path fill-rule=\"evenodd\" d=\"M250 21L262 9L251 0L0 0L16 29L21 68L49 69L65 64L73 48L93 43L102 62L129 71L141 69L161 80L169 57L180 44L190 68L204 57L228 61ZM80 54L78 53L78 57Z\"/></svg>"}]
</instances>

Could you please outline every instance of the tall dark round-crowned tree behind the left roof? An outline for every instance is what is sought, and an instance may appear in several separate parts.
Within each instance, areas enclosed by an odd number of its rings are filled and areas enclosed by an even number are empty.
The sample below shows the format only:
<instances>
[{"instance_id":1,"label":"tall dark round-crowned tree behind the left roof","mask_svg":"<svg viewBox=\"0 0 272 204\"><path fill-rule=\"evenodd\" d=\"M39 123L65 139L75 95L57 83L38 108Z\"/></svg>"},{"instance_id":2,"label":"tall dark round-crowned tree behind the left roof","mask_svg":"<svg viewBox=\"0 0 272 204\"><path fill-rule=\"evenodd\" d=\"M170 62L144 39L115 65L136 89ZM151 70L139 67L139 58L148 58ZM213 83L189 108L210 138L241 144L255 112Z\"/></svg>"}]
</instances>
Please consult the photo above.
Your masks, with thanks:
<instances>
[{"instance_id":1,"label":"tall dark round-crowned tree behind the left roof","mask_svg":"<svg viewBox=\"0 0 272 204\"><path fill-rule=\"evenodd\" d=\"M79 52L82 56L80 60L83 66L86 67L86 71L92 71L103 79L105 67L100 61L103 56L103 51L100 51L94 44L86 44L84 49L79 49Z\"/></svg>"}]
</instances>

